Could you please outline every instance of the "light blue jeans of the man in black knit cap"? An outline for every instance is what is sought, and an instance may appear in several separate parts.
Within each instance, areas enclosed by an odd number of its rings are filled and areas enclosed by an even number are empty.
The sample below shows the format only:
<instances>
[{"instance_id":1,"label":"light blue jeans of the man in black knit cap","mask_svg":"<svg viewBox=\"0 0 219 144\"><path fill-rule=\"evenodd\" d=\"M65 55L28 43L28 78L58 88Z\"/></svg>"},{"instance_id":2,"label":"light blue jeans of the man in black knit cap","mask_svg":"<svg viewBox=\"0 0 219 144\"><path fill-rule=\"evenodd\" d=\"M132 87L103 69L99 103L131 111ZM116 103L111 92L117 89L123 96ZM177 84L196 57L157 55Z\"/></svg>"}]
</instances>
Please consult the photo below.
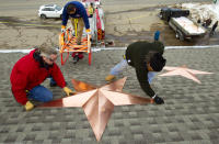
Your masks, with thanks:
<instances>
[{"instance_id":1,"label":"light blue jeans of the man in black knit cap","mask_svg":"<svg viewBox=\"0 0 219 144\"><path fill-rule=\"evenodd\" d=\"M117 65L115 65L112 69L111 69L111 75L117 76L118 74L120 74L126 67L128 66L128 63L126 59L122 59ZM155 76L155 71L149 71L148 73L148 82L151 84L154 76Z\"/></svg>"}]
</instances>

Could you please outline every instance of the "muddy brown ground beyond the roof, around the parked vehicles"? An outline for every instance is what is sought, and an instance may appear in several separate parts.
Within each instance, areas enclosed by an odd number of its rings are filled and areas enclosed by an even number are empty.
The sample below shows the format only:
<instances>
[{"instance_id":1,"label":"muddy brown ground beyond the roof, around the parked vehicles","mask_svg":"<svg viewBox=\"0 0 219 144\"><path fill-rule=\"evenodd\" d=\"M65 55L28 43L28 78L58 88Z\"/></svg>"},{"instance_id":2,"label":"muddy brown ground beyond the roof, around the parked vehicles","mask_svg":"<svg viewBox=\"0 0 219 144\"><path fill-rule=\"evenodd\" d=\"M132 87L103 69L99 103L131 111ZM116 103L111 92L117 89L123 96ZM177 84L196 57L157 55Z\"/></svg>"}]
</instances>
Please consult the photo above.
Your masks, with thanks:
<instances>
[{"instance_id":1,"label":"muddy brown ground beyond the roof, around the parked vehicles","mask_svg":"<svg viewBox=\"0 0 219 144\"><path fill-rule=\"evenodd\" d=\"M37 16L37 10L42 4L56 3L64 7L66 2L56 0L49 2L44 0L1 2L0 48L30 48L48 40L58 45L61 21L59 19L41 20ZM218 44L218 35L196 42L177 41L175 33L158 16L161 8L174 5L175 2L176 0L162 3L159 0L153 2L142 0L102 1L105 12L106 41L114 41L114 46L124 47L138 40L151 41L154 31L159 30L161 31L161 41L168 46ZM204 2L208 2L208 0ZM134 3L135 8L132 8Z\"/></svg>"}]
</instances>

